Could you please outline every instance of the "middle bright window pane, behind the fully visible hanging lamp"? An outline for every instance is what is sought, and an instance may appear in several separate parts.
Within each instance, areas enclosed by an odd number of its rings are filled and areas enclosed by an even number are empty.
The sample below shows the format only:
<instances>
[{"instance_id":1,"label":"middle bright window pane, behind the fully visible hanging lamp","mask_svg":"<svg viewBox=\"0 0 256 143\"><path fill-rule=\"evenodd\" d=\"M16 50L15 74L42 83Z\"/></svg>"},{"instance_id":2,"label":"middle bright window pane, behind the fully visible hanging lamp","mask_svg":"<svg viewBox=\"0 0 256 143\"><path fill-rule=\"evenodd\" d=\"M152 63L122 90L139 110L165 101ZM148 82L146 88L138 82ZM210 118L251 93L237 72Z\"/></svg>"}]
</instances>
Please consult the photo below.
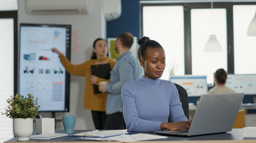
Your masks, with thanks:
<instances>
[{"instance_id":1,"label":"middle bright window pane, behind the fully visible hanging lamp","mask_svg":"<svg viewBox=\"0 0 256 143\"><path fill-rule=\"evenodd\" d=\"M220 42L221 52L204 52L210 34ZM191 9L191 64L193 75L207 75L214 83L214 72L227 70L226 9Z\"/></svg>"}]
</instances>

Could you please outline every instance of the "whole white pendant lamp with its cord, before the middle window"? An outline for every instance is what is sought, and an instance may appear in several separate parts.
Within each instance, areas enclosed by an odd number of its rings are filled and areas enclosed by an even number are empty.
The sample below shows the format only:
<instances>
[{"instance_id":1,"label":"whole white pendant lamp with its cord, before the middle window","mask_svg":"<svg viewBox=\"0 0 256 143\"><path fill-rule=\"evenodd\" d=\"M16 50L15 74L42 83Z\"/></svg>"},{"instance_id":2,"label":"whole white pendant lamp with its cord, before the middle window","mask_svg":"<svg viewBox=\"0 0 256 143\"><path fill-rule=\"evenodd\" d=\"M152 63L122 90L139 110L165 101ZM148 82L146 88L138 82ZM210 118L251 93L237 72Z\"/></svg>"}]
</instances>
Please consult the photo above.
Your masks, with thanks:
<instances>
[{"instance_id":1,"label":"whole white pendant lamp with its cord, before the middle window","mask_svg":"<svg viewBox=\"0 0 256 143\"><path fill-rule=\"evenodd\" d=\"M211 33L212 33L212 25L213 25L213 14L212 11L214 9L214 3L213 1L211 1ZM207 43L205 44L204 47L204 51L205 52L221 52L221 44L219 43L219 41L216 38L215 34L211 34L209 37L209 40L207 41Z\"/></svg>"}]
</instances>

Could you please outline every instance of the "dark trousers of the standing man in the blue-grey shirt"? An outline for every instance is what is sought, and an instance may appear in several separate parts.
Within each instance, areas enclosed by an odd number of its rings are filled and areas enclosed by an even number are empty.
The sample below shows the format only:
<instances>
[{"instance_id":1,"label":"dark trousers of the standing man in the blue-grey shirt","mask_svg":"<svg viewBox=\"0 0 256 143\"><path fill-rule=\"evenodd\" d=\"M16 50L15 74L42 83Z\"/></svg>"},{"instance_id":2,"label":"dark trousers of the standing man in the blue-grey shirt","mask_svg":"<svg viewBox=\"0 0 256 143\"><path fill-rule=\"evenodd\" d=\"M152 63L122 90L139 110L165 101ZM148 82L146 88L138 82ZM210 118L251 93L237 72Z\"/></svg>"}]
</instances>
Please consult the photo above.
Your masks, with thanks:
<instances>
[{"instance_id":1,"label":"dark trousers of the standing man in the blue-grey shirt","mask_svg":"<svg viewBox=\"0 0 256 143\"><path fill-rule=\"evenodd\" d=\"M121 130L121 129L126 129L122 112L115 112L115 113L106 115L104 130Z\"/></svg>"}]
</instances>

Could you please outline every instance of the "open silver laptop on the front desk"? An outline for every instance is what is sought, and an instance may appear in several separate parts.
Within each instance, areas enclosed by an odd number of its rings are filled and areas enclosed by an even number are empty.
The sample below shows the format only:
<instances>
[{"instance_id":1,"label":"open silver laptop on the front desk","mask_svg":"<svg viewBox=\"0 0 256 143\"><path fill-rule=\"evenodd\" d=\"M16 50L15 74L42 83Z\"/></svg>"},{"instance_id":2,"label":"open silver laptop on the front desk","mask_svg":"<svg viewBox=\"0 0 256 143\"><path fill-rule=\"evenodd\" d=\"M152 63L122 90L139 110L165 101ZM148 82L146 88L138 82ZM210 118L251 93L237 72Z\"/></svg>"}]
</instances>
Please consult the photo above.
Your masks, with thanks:
<instances>
[{"instance_id":1,"label":"open silver laptop on the front desk","mask_svg":"<svg viewBox=\"0 0 256 143\"><path fill-rule=\"evenodd\" d=\"M231 131L243 98L243 93L203 94L189 130L164 130L155 133L193 136Z\"/></svg>"}]
</instances>

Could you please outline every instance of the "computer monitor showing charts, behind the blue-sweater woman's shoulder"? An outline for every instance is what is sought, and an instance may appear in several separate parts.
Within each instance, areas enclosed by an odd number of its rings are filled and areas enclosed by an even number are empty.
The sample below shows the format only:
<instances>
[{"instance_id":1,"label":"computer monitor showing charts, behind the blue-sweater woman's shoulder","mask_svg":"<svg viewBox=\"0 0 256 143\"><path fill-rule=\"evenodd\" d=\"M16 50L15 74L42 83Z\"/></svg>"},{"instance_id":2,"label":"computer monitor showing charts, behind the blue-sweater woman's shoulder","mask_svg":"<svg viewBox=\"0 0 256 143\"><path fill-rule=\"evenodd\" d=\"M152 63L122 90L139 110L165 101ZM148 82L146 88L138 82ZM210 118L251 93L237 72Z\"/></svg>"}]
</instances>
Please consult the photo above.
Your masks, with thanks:
<instances>
[{"instance_id":1,"label":"computer monitor showing charts, behind the blue-sweater woman's shoulder","mask_svg":"<svg viewBox=\"0 0 256 143\"><path fill-rule=\"evenodd\" d=\"M200 96L207 93L206 75L172 76L170 81L181 85L188 96Z\"/></svg>"}]
</instances>

